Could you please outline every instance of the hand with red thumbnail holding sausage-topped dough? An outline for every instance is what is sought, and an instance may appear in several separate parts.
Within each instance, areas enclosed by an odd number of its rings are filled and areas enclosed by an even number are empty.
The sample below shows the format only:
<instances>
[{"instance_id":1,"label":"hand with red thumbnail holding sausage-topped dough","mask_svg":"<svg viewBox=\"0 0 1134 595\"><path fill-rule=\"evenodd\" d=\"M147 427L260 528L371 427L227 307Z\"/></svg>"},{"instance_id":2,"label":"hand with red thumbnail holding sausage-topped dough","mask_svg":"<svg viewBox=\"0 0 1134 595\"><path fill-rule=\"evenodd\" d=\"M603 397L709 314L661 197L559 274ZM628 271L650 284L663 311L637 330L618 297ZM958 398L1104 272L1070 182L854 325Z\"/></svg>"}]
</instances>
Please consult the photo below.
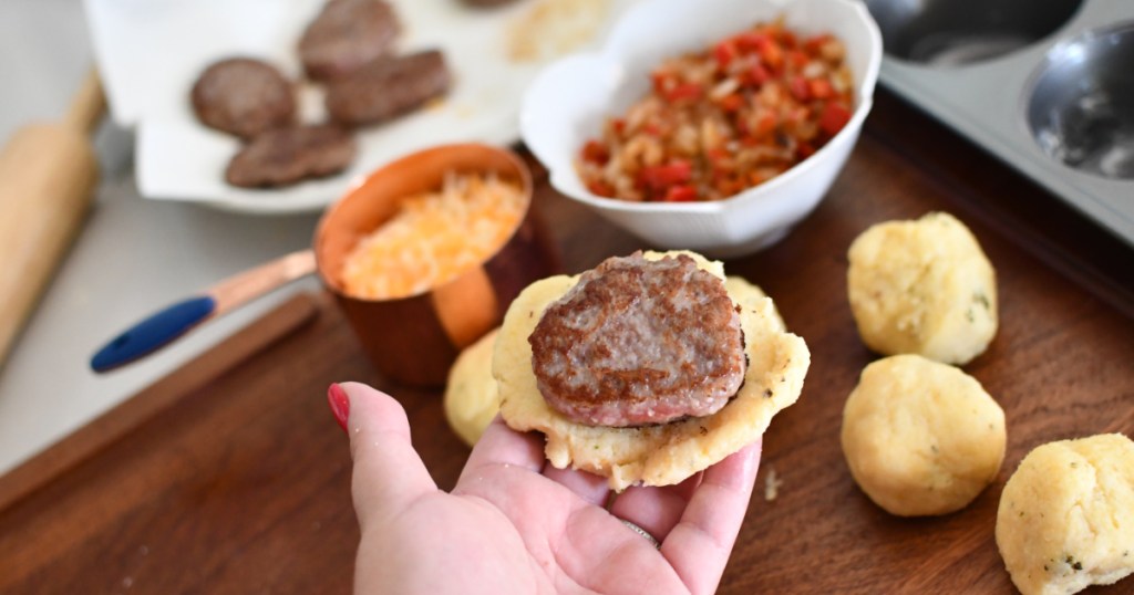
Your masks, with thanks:
<instances>
[{"instance_id":1,"label":"hand with red thumbnail holding sausage-topped dough","mask_svg":"<svg viewBox=\"0 0 1134 595\"><path fill-rule=\"evenodd\" d=\"M497 417L446 493L393 398L358 383L331 385L328 398L354 458L357 593L712 593L760 465L758 442L606 507L606 478L547 465L538 434Z\"/></svg>"}]
</instances>

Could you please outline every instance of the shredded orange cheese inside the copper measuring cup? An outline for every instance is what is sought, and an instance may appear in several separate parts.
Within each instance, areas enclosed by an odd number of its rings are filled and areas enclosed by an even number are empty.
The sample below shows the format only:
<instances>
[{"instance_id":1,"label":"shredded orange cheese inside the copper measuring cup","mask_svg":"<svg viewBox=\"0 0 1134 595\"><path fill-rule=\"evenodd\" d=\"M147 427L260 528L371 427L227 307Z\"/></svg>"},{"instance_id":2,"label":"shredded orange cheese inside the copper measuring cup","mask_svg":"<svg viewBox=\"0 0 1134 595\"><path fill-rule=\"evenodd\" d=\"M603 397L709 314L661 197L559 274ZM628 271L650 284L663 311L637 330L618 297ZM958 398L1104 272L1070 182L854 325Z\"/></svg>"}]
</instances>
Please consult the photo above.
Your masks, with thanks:
<instances>
[{"instance_id":1,"label":"shredded orange cheese inside the copper measuring cup","mask_svg":"<svg viewBox=\"0 0 1134 595\"><path fill-rule=\"evenodd\" d=\"M342 288L364 299L422 294L475 267L524 214L521 188L494 176L446 177L440 192L406 198L342 265Z\"/></svg>"}]
</instances>

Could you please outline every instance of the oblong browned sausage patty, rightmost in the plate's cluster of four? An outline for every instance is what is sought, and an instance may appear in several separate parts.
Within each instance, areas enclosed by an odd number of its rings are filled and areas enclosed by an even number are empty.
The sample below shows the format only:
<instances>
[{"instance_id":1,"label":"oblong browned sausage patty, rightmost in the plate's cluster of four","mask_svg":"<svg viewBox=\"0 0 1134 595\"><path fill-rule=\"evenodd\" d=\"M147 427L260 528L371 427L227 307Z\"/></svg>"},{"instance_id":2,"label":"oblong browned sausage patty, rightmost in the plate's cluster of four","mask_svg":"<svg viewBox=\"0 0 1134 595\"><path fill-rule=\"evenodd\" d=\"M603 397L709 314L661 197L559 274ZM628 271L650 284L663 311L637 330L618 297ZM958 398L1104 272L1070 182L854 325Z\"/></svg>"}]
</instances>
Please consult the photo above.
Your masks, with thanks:
<instances>
[{"instance_id":1,"label":"oblong browned sausage patty, rightmost in the plate's cluster of four","mask_svg":"<svg viewBox=\"0 0 1134 595\"><path fill-rule=\"evenodd\" d=\"M327 111L346 126L379 124L443 95L451 78L437 50L383 58L327 87Z\"/></svg>"}]
</instances>

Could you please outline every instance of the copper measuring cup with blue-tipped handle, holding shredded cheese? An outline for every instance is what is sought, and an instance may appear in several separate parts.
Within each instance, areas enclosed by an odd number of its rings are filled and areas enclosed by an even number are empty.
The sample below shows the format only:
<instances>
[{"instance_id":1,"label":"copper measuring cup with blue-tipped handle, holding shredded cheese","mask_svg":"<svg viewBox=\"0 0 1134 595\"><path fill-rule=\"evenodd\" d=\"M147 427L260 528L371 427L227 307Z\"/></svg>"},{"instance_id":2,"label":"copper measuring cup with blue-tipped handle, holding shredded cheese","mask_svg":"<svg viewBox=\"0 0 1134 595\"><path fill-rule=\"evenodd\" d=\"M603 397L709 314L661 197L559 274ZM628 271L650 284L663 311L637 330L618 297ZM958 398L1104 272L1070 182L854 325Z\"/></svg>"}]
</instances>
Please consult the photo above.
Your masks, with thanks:
<instances>
[{"instance_id":1,"label":"copper measuring cup with blue-tipped handle, holding shredded cheese","mask_svg":"<svg viewBox=\"0 0 1134 595\"><path fill-rule=\"evenodd\" d=\"M447 173L496 173L519 185L525 215L508 240L475 269L415 296L364 299L345 294L340 271L355 244L393 216L405 198L440 188ZM522 289L558 271L558 252L532 203L532 176L524 161L490 145L442 145L393 161L347 190L323 213L313 249L167 307L107 343L91 367L108 372L139 359L208 320L318 272L379 372L404 384L437 386L462 349L500 324Z\"/></svg>"}]
</instances>

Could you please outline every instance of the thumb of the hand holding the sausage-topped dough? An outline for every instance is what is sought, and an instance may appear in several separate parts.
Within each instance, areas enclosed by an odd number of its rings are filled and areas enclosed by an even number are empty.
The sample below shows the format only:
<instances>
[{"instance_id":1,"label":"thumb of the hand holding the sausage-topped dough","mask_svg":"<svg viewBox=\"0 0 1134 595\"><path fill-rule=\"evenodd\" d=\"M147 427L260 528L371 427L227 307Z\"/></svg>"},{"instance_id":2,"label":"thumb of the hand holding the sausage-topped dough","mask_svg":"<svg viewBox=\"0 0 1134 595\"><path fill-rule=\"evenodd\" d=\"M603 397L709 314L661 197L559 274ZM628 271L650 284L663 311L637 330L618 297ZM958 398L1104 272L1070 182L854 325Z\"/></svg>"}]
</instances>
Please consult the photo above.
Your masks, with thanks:
<instances>
[{"instance_id":1,"label":"thumb of the hand holding the sausage-topped dough","mask_svg":"<svg viewBox=\"0 0 1134 595\"><path fill-rule=\"evenodd\" d=\"M409 420L401 403L357 382L338 386L349 400L350 491L358 522L365 526L374 517L389 518L416 498L435 492L437 484L411 443Z\"/></svg>"}]
</instances>

